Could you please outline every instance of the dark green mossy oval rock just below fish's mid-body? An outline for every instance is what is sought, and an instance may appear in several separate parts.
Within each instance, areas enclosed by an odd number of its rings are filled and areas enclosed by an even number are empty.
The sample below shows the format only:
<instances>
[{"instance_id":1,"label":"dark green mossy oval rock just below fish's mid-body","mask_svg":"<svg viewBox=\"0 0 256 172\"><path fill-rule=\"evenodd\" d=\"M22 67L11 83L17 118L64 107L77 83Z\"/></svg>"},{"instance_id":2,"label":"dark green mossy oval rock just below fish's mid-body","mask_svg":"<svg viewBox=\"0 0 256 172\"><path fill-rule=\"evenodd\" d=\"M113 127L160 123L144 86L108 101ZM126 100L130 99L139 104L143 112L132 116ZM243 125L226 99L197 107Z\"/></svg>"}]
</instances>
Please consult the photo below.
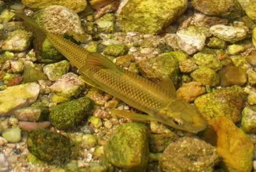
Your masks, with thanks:
<instances>
[{"instance_id":1,"label":"dark green mossy oval rock just below fish's mid-body","mask_svg":"<svg viewBox=\"0 0 256 172\"><path fill-rule=\"evenodd\" d=\"M65 130L79 124L93 107L92 101L87 97L56 105L50 111L50 121L53 126Z\"/></svg>"}]
</instances>

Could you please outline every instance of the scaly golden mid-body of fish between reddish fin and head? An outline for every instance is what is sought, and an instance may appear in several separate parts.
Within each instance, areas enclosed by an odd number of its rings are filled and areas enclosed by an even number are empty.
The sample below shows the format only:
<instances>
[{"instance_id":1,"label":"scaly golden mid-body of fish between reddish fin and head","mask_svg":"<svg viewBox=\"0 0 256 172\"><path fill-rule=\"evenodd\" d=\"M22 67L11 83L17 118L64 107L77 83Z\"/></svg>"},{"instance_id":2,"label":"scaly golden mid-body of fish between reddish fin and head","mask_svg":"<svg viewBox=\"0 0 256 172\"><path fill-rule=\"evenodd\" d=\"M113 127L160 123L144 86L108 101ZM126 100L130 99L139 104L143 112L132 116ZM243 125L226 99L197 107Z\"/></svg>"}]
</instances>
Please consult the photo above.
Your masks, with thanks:
<instances>
[{"instance_id":1,"label":"scaly golden mid-body of fish between reddish fin and head","mask_svg":"<svg viewBox=\"0 0 256 172\"><path fill-rule=\"evenodd\" d=\"M128 73L117 73L111 69L100 69L97 72L92 70L87 73L93 78L98 85L107 90L107 92L116 97L122 97L124 102L132 105L133 107L152 113L158 111L158 109L166 106L171 97L165 94L164 91L159 90L157 84L150 83L148 80L142 79L142 77L136 77L137 81L146 81L144 84L148 84L150 88L140 87L137 82L134 82L132 77ZM154 94L152 94L152 90ZM117 95L118 94L118 95Z\"/></svg>"}]
</instances>

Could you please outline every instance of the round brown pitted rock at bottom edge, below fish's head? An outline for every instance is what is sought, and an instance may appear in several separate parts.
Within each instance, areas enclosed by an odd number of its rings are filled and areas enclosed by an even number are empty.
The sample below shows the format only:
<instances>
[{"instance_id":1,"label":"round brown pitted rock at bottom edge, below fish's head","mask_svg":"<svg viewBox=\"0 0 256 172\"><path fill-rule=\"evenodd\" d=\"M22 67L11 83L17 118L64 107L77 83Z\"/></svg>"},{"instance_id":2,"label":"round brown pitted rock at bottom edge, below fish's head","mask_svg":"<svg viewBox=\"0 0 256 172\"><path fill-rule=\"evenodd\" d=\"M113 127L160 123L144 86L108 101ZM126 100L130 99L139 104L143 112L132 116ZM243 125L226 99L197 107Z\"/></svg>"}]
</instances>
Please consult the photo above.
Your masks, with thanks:
<instances>
[{"instance_id":1,"label":"round brown pitted rock at bottom edge, below fish's head","mask_svg":"<svg viewBox=\"0 0 256 172\"><path fill-rule=\"evenodd\" d=\"M209 143L183 137L164 150L159 163L164 172L213 172L218 160L216 149Z\"/></svg>"}]
</instances>

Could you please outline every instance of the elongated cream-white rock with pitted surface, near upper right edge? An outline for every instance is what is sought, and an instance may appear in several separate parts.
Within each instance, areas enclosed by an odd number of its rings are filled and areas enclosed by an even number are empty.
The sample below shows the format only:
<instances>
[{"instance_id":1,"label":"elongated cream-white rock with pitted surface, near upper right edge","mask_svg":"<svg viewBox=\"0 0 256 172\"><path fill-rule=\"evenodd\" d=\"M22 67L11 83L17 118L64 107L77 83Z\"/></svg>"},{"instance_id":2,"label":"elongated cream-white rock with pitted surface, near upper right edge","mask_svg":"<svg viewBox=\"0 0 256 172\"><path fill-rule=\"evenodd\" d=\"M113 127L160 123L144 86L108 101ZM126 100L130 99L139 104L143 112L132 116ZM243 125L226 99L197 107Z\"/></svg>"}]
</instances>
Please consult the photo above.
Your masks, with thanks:
<instances>
[{"instance_id":1,"label":"elongated cream-white rock with pitted surface, near upper right edge","mask_svg":"<svg viewBox=\"0 0 256 172\"><path fill-rule=\"evenodd\" d=\"M215 37L231 43L243 40L247 35L247 31L242 27L225 25L214 25L210 28L210 31Z\"/></svg>"}]
</instances>

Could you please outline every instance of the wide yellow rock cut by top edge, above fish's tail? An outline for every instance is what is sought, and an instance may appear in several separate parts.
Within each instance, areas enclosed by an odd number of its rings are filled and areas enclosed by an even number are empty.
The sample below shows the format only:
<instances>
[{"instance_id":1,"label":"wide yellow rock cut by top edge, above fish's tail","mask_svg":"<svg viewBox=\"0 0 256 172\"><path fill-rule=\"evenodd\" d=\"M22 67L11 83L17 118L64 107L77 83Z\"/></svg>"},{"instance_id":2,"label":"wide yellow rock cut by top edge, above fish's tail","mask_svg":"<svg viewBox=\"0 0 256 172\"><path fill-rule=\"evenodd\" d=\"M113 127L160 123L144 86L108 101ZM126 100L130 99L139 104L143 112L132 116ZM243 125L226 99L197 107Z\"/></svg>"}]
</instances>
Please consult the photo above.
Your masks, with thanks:
<instances>
[{"instance_id":1,"label":"wide yellow rock cut by top edge, above fish's tail","mask_svg":"<svg viewBox=\"0 0 256 172\"><path fill-rule=\"evenodd\" d=\"M43 9L50 5L63 5L76 12L83 11L87 5L85 0L22 0L21 2L32 9Z\"/></svg>"}]
</instances>

